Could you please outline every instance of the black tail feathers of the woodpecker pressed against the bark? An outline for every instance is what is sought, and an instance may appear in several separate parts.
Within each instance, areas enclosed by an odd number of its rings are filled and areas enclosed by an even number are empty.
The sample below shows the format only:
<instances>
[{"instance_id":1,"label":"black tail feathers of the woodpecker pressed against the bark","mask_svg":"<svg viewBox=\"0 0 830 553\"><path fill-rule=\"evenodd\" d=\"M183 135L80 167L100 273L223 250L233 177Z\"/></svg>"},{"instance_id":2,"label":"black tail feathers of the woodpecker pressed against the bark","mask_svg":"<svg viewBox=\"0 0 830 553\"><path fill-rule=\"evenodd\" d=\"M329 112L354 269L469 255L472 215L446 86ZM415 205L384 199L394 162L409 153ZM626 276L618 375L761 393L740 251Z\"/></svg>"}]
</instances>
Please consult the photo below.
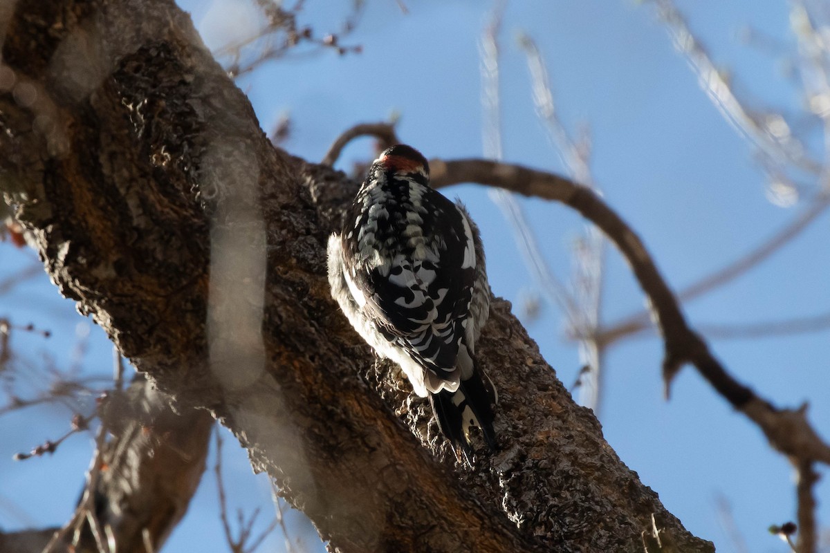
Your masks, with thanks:
<instances>
[{"instance_id":1,"label":"black tail feathers of the woodpecker pressed against the bark","mask_svg":"<svg viewBox=\"0 0 830 553\"><path fill-rule=\"evenodd\" d=\"M496 453L496 433L493 431L493 410L491 403L496 402L496 392L487 379L486 386L481 371L473 372L471 378L461 381L455 392L441 390L430 394L429 402L438 421L438 428L450 440L452 449L461 453L470 462L470 431L472 427L481 429L487 447Z\"/></svg>"}]
</instances>

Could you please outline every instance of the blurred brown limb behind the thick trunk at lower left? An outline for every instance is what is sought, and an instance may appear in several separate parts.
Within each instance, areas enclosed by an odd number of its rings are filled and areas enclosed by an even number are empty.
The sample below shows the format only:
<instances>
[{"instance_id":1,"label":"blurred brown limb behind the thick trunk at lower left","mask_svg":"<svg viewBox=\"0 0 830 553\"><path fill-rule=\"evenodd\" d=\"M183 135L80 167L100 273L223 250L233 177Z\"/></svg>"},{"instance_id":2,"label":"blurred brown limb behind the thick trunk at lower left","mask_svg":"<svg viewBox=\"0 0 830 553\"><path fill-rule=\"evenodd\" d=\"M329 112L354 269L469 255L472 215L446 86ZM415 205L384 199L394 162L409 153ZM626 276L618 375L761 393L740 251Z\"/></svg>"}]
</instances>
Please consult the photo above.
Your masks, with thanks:
<instances>
[{"instance_id":1,"label":"blurred brown limb behind the thick trunk at lower left","mask_svg":"<svg viewBox=\"0 0 830 553\"><path fill-rule=\"evenodd\" d=\"M0 535L2 551L159 551L198 487L213 419L203 410L173 412L169 398L143 376L104 400L100 416L104 422L71 521L60 530Z\"/></svg>"}]
</instances>

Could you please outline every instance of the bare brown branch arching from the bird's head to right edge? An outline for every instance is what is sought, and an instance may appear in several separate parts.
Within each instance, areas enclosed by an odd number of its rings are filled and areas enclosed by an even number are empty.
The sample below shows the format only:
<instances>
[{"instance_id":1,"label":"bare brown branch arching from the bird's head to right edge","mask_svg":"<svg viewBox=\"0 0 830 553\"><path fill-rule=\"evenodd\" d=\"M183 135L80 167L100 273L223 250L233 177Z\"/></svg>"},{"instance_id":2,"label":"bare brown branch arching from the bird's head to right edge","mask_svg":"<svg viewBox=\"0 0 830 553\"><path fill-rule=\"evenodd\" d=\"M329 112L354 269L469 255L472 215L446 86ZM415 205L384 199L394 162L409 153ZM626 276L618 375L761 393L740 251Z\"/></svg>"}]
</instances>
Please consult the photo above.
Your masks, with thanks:
<instances>
[{"instance_id":1,"label":"bare brown branch arching from the bird's head to right edge","mask_svg":"<svg viewBox=\"0 0 830 553\"><path fill-rule=\"evenodd\" d=\"M433 160L430 167L436 187L478 182L525 196L559 201L579 211L617 246L651 303L665 346L663 377L666 390L681 366L691 363L720 395L758 424L774 449L791 458L830 464L830 447L808 423L804 410L774 407L725 370L703 338L686 323L680 303L642 240L591 189L550 173L480 159Z\"/></svg>"}]
</instances>

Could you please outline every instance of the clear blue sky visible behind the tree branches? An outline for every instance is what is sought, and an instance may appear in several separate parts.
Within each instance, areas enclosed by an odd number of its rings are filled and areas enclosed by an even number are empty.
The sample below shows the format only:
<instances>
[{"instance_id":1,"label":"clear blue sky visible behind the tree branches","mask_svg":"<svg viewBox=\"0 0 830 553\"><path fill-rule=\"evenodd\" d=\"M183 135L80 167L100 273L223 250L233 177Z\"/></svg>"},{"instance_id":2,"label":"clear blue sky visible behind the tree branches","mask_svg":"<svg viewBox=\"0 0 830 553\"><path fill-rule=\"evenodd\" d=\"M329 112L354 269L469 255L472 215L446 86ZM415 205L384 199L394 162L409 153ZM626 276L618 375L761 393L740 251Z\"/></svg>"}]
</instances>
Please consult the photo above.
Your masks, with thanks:
<instances>
[{"instance_id":1,"label":"clear blue sky visible behind the tree branches","mask_svg":"<svg viewBox=\"0 0 830 553\"><path fill-rule=\"evenodd\" d=\"M193 10L208 46L221 46L250 28L242 0L179 3ZM332 11L330 3L305 2L300 21L320 35L336 31L348 10ZM362 46L361 54L324 51L289 57L239 80L263 129L269 131L281 114L290 114L293 128L284 147L313 161L322 158L342 130L395 113L400 116L399 136L427 157L480 157L478 45L491 2L403 3L408 14L393 0L368 2L357 29L343 39ZM788 52L793 51L789 4L736 0L704 5L689 0L678 7L716 64L732 72L735 90L752 106L798 114L803 99L786 76ZM738 40L747 27L774 38L779 50ZM767 179L752 149L701 91L649 3L528 0L507 5L500 36L506 161L565 170L536 117L525 58L515 41L518 32L532 36L545 56L559 118L572 133L589 129L594 181L637 230L674 289L763 243L803 207L797 203L783 208L769 201ZM813 144L819 150L822 146ZM339 167L348 169L352 161L369 155L369 141L358 141L344 152ZM466 201L484 236L491 285L521 314L522 298L538 293L538 287L505 219L481 187L464 185L446 193ZM519 202L544 260L567 279L570 245L582 231L579 217L548 202ZM830 310L827 227L828 216L821 216L766 263L689 303L691 323L753 323ZM6 267L33 258L31 252L4 244L0 256L10 261L0 267L0 279ZM602 320L610 323L642 309L643 297L616 251L609 249L606 260ZM45 276L31 279L0 297L0 317L51 328L56 336L46 343L22 333L15 337L21 347L50 347L60 366L68 366L76 348L76 325L89 323L56 296ZM563 337L559 308L544 303L540 318L528 321L527 327L559 378L566 385L573 382L579 358L574 344ZM775 405L809 401L810 419L830 439L828 330L763 340L712 339L710 344L736 377ZM748 551L787 551L766 528L794 517L789 464L693 369L681 372L671 400L663 400L661 356L662 345L652 335L608 351L601 417L606 439L666 507L697 536L714 541L718 551L740 551L722 527L719 497L730 503ZM84 366L109 374L110 357L100 330L91 329ZM0 527L58 524L69 517L89 463L89 439L71 439L51 458L8 460L17 450L61 434L67 420L66 411L51 410L0 417ZM232 501L247 504L256 497L267 510L266 479L249 476L247 460L232 442L226 443L225 452L235 489ZM827 473L825 468L821 472ZM209 474L204 483L198 496L203 501L191 507L167 551L193 550L198 544L203 544L200 550L222 551ZM41 493L32 493L36 485ZM819 521L827 527L830 484L825 481L816 489ZM43 494L51 500L43 501ZM265 551L281 551L281 538L268 541Z\"/></svg>"}]
</instances>

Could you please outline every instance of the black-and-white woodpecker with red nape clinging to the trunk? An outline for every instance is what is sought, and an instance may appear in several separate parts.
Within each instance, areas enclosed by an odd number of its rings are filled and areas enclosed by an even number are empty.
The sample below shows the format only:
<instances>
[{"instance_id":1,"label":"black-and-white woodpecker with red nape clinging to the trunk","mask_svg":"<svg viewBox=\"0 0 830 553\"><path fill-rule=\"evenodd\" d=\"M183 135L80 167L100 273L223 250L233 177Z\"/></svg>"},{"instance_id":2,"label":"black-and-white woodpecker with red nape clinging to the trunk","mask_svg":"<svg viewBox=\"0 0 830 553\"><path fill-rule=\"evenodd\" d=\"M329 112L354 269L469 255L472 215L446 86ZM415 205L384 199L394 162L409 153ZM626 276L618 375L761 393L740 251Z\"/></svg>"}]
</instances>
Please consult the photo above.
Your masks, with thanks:
<instances>
[{"instance_id":1,"label":"black-and-white woodpecker with red nape clinging to the trunk","mask_svg":"<svg viewBox=\"0 0 830 553\"><path fill-rule=\"evenodd\" d=\"M495 452L496 389L476 363L490 286L465 207L430 187L427 159L398 144L369 167L344 221L328 245L331 294L343 313L429 398L457 458L470 463L473 427Z\"/></svg>"}]
</instances>

